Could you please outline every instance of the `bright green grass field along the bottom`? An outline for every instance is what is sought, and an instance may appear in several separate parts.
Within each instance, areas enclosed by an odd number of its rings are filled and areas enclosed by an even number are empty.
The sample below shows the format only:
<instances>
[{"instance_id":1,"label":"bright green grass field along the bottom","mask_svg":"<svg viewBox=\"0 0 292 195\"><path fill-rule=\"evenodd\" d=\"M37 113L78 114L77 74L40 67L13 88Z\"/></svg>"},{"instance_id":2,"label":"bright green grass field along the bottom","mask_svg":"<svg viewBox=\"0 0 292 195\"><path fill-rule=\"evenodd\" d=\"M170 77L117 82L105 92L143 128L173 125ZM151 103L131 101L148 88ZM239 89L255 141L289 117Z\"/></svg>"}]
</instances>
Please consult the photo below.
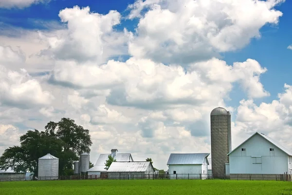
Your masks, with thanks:
<instances>
[{"instance_id":1,"label":"bright green grass field along the bottom","mask_svg":"<svg viewBox=\"0 0 292 195\"><path fill-rule=\"evenodd\" d=\"M0 182L0 195L292 195L292 182L61 180Z\"/></svg>"}]
</instances>

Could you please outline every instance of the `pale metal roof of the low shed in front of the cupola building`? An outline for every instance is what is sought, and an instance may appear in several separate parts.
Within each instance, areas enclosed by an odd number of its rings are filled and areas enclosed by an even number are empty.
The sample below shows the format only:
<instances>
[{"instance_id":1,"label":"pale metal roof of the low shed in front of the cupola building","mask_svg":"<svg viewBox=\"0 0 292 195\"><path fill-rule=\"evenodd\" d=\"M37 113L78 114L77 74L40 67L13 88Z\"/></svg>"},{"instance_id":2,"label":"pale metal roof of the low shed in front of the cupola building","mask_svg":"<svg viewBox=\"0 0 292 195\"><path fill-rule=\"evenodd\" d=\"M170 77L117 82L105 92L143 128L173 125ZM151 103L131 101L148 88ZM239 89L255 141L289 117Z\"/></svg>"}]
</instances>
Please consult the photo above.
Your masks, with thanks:
<instances>
[{"instance_id":1,"label":"pale metal roof of the low shed in front of the cupola building","mask_svg":"<svg viewBox=\"0 0 292 195\"><path fill-rule=\"evenodd\" d=\"M149 165L150 165L149 161L143 161L143 162L112 162L108 172L146 172L146 170L148 169ZM154 170L154 168L153 168L153 170Z\"/></svg>"}]
</instances>

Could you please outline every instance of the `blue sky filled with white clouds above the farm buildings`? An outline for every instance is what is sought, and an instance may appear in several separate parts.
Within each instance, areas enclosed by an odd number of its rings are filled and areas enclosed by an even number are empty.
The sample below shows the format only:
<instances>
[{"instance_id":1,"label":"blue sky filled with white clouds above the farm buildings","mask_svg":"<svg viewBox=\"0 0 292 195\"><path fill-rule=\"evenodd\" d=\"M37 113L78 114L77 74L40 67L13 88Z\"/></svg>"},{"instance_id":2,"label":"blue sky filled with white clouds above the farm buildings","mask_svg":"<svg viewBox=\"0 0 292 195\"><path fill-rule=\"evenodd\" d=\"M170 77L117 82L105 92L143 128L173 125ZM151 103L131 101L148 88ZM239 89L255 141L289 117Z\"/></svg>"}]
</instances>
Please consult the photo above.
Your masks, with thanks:
<instances>
[{"instance_id":1,"label":"blue sky filled with white clouds above the farm buildings","mask_svg":"<svg viewBox=\"0 0 292 195\"><path fill-rule=\"evenodd\" d=\"M232 147L260 132L292 151L292 8L285 0L0 0L0 154L70 117L90 160L117 148L167 170L207 153L210 112Z\"/></svg>"}]
</instances>

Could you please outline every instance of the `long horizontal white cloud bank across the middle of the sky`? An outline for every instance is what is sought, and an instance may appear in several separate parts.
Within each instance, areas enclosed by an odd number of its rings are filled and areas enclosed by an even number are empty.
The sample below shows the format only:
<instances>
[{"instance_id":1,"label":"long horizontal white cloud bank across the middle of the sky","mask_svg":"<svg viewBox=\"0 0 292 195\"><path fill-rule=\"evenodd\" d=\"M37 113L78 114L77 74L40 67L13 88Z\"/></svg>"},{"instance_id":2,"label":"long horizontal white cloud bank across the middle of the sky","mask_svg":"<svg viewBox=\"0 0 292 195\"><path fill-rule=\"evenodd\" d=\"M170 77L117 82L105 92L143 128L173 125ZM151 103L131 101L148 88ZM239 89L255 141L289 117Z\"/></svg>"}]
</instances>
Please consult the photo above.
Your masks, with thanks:
<instances>
[{"instance_id":1,"label":"long horizontal white cloud bank across the middle of the sky","mask_svg":"<svg viewBox=\"0 0 292 195\"><path fill-rule=\"evenodd\" d=\"M218 104L239 82L250 98L269 96L259 81L266 69L253 59L229 66L210 59L191 64L188 71L149 59L110 60L97 66L74 61L57 62L51 81L75 88L110 89L110 104L157 108L171 105ZM208 87L207 87L208 86Z\"/></svg>"}]
</instances>

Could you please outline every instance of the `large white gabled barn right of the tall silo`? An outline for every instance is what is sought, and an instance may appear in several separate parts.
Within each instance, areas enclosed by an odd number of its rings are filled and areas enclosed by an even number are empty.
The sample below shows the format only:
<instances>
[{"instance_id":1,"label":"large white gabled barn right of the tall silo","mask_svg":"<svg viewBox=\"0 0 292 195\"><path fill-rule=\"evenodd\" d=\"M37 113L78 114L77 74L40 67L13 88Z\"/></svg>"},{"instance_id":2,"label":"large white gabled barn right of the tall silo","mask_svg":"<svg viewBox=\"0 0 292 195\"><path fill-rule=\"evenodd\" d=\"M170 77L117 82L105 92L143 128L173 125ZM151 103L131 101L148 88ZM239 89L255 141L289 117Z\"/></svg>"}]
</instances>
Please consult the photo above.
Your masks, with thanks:
<instances>
[{"instance_id":1,"label":"large white gabled barn right of the tall silo","mask_svg":"<svg viewBox=\"0 0 292 195\"><path fill-rule=\"evenodd\" d=\"M292 174L292 152L258 132L228 155L231 179L235 174Z\"/></svg>"}]
</instances>

